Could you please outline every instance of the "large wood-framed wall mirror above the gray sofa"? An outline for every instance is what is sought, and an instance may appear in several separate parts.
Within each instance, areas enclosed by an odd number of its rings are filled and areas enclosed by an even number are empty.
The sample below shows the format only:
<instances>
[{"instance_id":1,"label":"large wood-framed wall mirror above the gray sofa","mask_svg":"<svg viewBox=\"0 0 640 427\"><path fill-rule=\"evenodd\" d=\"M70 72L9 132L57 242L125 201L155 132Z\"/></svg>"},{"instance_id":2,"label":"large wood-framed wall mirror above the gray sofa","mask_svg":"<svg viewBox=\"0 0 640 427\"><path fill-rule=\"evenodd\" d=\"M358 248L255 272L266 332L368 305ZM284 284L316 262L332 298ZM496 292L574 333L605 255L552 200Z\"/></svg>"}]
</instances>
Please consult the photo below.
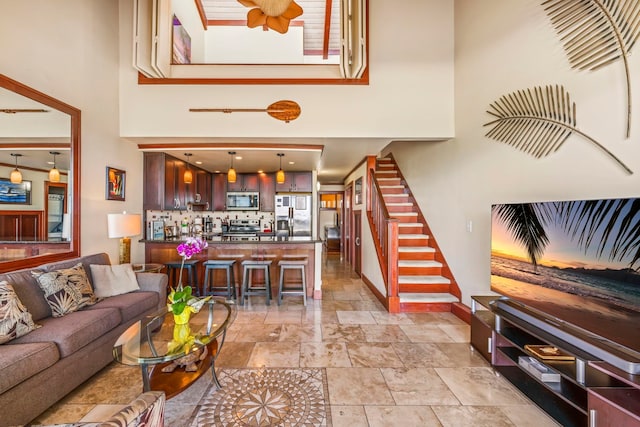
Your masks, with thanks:
<instances>
[{"instance_id":1,"label":"large wood-framed wall mirror above the gray sofa","mask_svg":"<svg viewBox=\"0 0 640 427\"><path fill-rule=\"evenodd\" d=\"M0 74L0 272L79 256L79 176L80 110Z\"/></svg>"}]
</instances>

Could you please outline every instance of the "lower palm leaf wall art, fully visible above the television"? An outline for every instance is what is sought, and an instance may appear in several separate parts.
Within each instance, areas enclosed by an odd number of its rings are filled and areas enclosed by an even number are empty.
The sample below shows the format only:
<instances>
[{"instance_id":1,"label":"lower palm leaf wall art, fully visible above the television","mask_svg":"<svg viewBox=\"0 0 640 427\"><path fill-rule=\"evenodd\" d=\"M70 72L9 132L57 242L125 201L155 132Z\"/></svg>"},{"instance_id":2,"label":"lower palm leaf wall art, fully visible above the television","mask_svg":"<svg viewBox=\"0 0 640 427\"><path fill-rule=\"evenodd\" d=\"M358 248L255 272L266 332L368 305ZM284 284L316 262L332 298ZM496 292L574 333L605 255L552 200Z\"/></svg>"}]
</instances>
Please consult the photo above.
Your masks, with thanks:
<instances>
[{"instance_id":1,"label":"lower palm leaf wall art, fully visible above the television","mask_svg":"<svg viewBox=\"0 0 640 427\"><path fill-rule=\"evenodd\" d=\"M633 172L595 139L576 128L576 104L564 87L534 87L503 95L489 105L495 120L485 123L488 138L524 151L536 158L557 151L576 133L615 160L628 174Z\"/></svg>"}]
</instances>

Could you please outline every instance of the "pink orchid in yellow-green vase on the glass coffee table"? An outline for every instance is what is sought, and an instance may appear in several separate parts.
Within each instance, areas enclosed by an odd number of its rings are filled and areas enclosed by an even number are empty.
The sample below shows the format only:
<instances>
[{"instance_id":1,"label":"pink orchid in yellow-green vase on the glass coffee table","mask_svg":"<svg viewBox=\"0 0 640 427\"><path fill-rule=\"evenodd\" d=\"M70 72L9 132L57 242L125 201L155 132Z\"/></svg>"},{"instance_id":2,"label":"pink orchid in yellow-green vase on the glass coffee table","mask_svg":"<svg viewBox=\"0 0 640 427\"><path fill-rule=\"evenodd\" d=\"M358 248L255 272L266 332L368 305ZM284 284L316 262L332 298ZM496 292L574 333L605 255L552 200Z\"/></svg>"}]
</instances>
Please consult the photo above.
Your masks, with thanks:
<instances>
[{"instance_id":1,"label":"pink orchid in yellow-green vase on the glass coffee table","mask_svg":"<svg viewBox=\"0 0 640 427\"><path fill-rule=\"evenodd\" d=\"M185 242L180 243L177 247L178 254L182 256L182 264L180 264L180 273L178 276L178 285L175 289L171 288L169 293L168 310L173 313L176 324L188 322L191 313L200 311L205 302L211 297L197 298L192 295L191 286L182 286L182 269L185 260L191 259L194 255L202 252L209 246L206 241L200 238L189 237Z\"/></svg>"}]
</instances>

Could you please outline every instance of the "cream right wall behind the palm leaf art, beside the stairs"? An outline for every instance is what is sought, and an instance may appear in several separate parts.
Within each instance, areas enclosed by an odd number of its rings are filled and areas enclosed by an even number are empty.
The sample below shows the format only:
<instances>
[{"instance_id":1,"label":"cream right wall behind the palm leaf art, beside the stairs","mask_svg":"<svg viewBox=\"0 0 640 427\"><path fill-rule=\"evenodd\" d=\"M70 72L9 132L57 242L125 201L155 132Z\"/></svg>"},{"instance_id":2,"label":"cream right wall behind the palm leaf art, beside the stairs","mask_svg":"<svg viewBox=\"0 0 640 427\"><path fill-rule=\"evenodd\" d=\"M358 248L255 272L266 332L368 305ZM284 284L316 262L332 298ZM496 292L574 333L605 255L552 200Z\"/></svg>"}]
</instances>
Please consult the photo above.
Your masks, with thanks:
<instances>
[{"instance_id":1,"label":"cream right wall behind the palm leaf art, beside the stairs","mask_svg":"<svg viewBox=\"0 0 640 427\"><path fill-rule=\"evenodd\" d=\"M538 1L456 0L455 28L455 140L395 143L384 151L393 152L469 304L471 295L489 292L492 203L640 196L640 112L625 139L622 64L571 69ZM637 55L630 57L630 69L638 105ZM542 159L484 136L490 103L546 84L565 87L577 105L578 129L614 152L633 175L578 135Z\"/></svg>"}]
</instances>

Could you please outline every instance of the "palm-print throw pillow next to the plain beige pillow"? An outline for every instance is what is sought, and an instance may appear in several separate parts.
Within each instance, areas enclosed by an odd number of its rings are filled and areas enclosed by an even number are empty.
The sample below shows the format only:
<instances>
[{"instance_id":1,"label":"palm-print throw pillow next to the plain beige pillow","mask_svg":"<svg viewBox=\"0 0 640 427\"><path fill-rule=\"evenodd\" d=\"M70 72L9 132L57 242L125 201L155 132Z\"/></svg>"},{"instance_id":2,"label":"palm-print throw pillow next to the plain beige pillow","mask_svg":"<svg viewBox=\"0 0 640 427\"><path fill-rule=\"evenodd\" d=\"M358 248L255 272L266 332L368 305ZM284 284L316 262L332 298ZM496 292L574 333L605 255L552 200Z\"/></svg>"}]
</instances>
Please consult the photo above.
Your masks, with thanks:
<instances>
[{"instance_id":1,"label":"palm-print throw pillow next to the plain beige pillow","mask_svg":"<svg viewBox=\"0 0 640 427\"><path fill-rule=\"evenodd\" d=\"M98 299L93 293L87 272L82 263L71 268L50 272L34 271L40 289L51 307L53 317L62 317L87 305L93 305Z\"/></svg>"}]
</instances>

